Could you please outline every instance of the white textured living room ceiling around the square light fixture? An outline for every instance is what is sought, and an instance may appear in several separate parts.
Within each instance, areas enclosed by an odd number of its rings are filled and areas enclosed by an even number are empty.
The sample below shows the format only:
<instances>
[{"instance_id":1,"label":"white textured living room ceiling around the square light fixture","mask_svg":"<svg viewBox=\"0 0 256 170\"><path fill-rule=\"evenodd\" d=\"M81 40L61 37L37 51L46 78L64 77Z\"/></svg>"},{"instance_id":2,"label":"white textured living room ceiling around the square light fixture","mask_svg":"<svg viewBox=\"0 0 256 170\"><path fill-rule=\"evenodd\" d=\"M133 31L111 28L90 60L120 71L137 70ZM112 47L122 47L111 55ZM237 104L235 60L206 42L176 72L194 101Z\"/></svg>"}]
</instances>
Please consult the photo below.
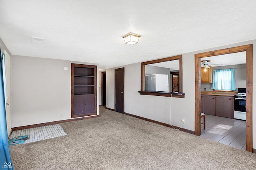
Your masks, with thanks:
<instances>
[{"instance_id":1,"label":"white textured living room ceiling around the square light fixture","mask_svg":"<svg viewBox=\"0 0 256 170\"><path fill-rule=\"evenodd\" d=\"M0 0L0 37L12 55L106 69L254 40L255 9L255 0ZM138 44L124 43L128 32Z\"/></svg>"}]
</instances>

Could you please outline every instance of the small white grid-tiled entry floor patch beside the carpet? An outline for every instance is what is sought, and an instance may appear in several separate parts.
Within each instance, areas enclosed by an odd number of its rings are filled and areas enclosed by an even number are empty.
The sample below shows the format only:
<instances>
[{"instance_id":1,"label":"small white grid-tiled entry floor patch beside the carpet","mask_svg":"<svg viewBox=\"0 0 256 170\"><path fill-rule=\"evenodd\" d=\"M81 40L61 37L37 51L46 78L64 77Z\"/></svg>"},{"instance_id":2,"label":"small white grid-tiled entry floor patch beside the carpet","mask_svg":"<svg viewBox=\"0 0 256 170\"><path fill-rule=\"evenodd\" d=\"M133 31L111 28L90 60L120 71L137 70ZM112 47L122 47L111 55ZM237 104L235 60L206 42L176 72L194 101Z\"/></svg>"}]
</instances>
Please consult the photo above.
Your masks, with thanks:
<instances>
[{"instance_id":1,"label":"small white grid-tiled entry floor patch beside the carpet","mask_svg":"<svg viewBox=\"0 0 256 170\"><path fill-rule=\"evenodd\" d=\"M29 134L29 138L26 141L26 143L67 135L66 132L63 130L63 128L60 126L60 124L56 124L56 125L46 125L43 127L15 130L9 136L9 140L16 136L24 136L27 134Z\"/></svg>"}]
</instances>

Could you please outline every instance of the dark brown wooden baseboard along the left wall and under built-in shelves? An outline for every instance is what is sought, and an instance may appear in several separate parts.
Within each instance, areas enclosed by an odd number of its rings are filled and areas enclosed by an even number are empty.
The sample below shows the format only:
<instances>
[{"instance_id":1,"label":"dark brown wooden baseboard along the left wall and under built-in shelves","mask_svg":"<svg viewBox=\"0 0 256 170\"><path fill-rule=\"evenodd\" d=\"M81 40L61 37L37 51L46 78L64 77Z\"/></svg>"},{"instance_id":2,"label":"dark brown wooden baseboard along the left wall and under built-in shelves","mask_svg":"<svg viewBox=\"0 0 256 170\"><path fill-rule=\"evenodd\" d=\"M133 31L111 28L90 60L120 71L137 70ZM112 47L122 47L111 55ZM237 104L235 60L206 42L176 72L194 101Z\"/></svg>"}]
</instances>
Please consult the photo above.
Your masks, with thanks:
<instances>
[{"instance_id":1,"label":"dark brown wooden baseboard along the left wall and under built-in shelves","mask_svg":"<svg viewBox=\"0 0 256 170\"><path fill-rule=\"evenodd\" d=\"M35 124L35 125L27 125L27 126L22 126L22 127L14 127L14 128L12 128L12 131L22 130L22 129L26 129L26 128L42 127L42 126L46 126L46 125L55 125L55 124L59 124L59 123L79 121L79 120L83 120L83 119L91 119L91 118L96 118L96 117L100 117L100 116L96 115L96 116L90 116L90 117L80 117L80 118L75 118L75 119L66 119L66 120L62 120L62 121L54 121L54 122L47 122L47 123L39 123L39 124Z\"/></svg>"}]
</instances>

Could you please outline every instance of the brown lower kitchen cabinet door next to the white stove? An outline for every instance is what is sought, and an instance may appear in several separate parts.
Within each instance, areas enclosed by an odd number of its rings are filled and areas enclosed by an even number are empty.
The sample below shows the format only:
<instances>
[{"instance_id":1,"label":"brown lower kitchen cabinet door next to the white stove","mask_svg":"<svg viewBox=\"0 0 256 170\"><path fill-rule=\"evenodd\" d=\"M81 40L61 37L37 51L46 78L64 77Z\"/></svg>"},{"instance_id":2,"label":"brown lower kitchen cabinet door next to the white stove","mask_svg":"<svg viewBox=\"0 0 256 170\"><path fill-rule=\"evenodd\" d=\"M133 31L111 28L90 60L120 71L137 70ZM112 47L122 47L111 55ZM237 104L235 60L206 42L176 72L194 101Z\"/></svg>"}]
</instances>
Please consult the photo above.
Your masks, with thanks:
<instances>
[{"instance_id":1,"label":"brown lower kitchen cabinet door next to the white stove","mask_svg":"<svg viewBox=\"0 0 256 170\"><path fill-rule=\"evenodd\" d=\"M232 98L216 97L216 116L232 118Z\"/></svg>"}]
</instances>

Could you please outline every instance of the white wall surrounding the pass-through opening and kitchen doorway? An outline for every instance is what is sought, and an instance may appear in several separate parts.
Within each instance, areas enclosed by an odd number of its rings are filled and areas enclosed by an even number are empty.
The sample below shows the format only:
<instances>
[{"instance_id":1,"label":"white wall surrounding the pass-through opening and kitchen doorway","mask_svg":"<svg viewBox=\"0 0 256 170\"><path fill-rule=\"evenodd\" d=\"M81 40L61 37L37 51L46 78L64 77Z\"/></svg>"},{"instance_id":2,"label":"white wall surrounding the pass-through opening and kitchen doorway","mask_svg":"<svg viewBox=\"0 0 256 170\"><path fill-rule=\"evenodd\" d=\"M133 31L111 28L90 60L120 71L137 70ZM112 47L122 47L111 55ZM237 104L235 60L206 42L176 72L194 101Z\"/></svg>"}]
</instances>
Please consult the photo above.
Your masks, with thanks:
<instances>
[{"instance_id":1,"label":"white wall surrounding the pass-through opening and kitchen doorway","mask_svg":"<svg viewBox=\"0 0 256 170\"><path fill-rule=\"evenodd\" d=\"M237 47L240 45L253 44L253 53L256 53L256 40L194 51L191 53L182 54L183 59L183 93L186 93L185 98L172 98L170 105L170 97L140 95L140 63L122 66L125 68L125 87L124 87L124 111L133 115L160 121L175 126L181 125L181 119L185 119L183 128L194 131L195 122L195 57L197 53L213 51L217 49L225 49L229 47ZM167 57L167 56L166 56ZM253 79L256 79L256 60L253 59ZM119 68L119 67L118 67ZM106 107L114 108L114 69L107 69L107 103ZM253 84L253 148L256 148L256 83ZM130 107L130 110L128 110Z\"/></svg>"}]
</instances>

